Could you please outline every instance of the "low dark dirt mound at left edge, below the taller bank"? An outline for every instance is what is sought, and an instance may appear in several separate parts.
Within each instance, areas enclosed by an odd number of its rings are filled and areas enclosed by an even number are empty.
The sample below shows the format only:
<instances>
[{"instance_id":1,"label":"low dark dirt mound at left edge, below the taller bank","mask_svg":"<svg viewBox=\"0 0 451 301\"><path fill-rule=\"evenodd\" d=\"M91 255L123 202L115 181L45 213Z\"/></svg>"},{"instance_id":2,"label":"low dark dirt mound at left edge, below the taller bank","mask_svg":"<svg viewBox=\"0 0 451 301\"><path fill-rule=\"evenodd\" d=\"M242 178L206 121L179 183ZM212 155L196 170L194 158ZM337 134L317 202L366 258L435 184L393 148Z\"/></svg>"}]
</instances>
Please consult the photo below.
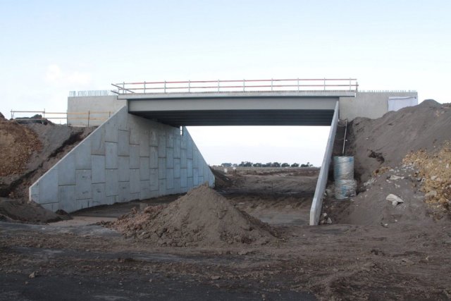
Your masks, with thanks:
<instances>
[{"instance_id":1,"label":"low dark dirt mound at left edge, below the taller bank","mask_svg":"<svg viewBox=\"0 0 451 301\"><path fill-rule=\"evenodd\" d=\"M39 204L18 199L0 197L0 221L20 221L28 223L51 223L61 221L63 216L42 208ZM66 216L64 219L70 219Z\"/></svg>"}]
</instances>

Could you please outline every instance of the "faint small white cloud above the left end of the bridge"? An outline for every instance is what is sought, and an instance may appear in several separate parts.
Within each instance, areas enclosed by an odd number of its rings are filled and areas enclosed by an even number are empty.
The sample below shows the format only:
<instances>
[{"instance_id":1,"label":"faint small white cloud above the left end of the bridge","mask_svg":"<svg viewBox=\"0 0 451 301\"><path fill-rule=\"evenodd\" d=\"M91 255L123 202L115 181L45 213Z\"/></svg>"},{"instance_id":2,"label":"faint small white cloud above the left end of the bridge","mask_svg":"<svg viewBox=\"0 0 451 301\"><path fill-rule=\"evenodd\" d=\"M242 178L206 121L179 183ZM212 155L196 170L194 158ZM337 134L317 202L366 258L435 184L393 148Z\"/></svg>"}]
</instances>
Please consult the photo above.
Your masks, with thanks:
<instances>
[{"instance_id":1,"label":"faint small white cloud above the left end of the bridge","mask_svg":"<svg viewBox=\"0 0 451 301\"><path fill-rule=\"evenodd\" d=\"M56 64L47 66L47 72L44 78L45 81L49 84L59 85L63 87L86 86L92 82L92 76L90 73L79 71L65 73Z\"/></svg>"}]
</instances>

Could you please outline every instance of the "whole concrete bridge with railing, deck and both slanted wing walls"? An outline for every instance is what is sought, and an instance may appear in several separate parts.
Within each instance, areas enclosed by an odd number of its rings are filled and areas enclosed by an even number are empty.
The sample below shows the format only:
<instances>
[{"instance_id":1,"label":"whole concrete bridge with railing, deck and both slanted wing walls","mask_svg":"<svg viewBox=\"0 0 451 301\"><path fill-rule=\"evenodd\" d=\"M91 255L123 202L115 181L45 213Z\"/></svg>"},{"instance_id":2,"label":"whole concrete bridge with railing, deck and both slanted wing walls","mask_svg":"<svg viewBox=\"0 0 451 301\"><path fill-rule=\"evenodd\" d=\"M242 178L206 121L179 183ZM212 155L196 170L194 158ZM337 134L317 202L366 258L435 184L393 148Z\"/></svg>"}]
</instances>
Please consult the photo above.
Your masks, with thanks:
<instances>
[{"instance_id":1,"label":"whole concrete bridge with railing, deck and both slanted wing walls","mask_svg":"<svg viewBox=\"0 0 451 301\"><path fill-rule=\"evenodd\" d=\"M89 110L118 111L30 187L30 200L53 211L70 212L187 192L205 182L213 186L214 176L187 132L188 125L329 125L310 214L310 224L318 223L340 102L356 96L357 80L123 82L113 86L117 90L112 92L71 93L68 113L86 109L89 116ZM371 107L370 103L371 98L363 105ZM68 124L83 125L75 123L68 118Z\"/></svg>"}]
</instances>

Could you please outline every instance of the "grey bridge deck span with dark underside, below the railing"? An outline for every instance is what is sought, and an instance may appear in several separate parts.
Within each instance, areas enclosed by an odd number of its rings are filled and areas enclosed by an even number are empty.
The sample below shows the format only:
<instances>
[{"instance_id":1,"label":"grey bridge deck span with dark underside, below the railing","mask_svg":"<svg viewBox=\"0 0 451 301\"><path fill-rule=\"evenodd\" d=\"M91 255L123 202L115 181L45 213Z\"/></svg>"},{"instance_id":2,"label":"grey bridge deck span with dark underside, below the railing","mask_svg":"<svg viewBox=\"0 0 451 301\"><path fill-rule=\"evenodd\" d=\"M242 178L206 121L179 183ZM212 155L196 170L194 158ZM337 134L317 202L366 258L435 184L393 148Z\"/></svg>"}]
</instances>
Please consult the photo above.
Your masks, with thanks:
<instances>
[{"instance_id":1,"label":"grey bridge deck span with dark underside, below the railing","mask_svg":"<svg viewBox=\"0 0 451 301\"><path fill-rule=\"evenodd\" d=\"M330 125L350 91L120 94L130 113L168 125Z\"/></svg>"}]
</instances>

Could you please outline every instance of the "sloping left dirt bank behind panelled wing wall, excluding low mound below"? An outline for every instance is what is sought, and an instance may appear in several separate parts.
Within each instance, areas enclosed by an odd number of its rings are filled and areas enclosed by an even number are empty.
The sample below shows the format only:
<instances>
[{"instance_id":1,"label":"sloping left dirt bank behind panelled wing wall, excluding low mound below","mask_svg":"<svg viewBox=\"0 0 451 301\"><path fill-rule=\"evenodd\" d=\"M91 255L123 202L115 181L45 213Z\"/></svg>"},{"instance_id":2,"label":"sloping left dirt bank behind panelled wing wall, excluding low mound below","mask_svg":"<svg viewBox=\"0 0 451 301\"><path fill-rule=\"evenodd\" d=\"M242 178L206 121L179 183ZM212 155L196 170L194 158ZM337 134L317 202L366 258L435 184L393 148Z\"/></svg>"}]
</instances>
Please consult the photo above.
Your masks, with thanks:
<instances>
[{"instance_id":1,"label":"sloping left dirt bank behind panelled wing wall, excluding low mound below","mask_svg":"<svg viewBox=\"0 0 451 301\"><path fill-rule=\"evenodd\" d=\"M0 121L0 197L27 198L30 185L92 130Z\"/></svg>"}]
</instances>

